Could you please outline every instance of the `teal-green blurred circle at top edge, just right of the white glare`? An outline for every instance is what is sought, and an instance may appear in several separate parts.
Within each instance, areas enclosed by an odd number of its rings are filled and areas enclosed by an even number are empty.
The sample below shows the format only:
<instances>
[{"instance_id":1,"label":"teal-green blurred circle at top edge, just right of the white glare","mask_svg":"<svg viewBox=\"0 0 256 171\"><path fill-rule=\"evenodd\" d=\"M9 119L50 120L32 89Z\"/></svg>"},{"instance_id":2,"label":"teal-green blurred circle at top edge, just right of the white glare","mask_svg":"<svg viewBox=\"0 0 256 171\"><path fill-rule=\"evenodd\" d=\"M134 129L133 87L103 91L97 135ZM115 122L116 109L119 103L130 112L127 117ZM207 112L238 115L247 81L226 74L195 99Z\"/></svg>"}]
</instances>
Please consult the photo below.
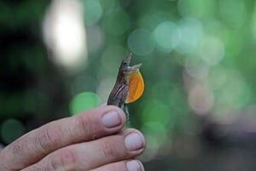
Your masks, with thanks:
<instances>
[{"instance_id":1,"label":"teal-green blurred circle at top edge, just right of the white glare","mask_svg":"<svg viewBox=\"0 0 256 171\"><path fill-rule=\"evenodd\" d=\"M102 6L97 0L84 0L84 18L87 26L93 26L102 18Z\"/></svg>"}]
</instances>

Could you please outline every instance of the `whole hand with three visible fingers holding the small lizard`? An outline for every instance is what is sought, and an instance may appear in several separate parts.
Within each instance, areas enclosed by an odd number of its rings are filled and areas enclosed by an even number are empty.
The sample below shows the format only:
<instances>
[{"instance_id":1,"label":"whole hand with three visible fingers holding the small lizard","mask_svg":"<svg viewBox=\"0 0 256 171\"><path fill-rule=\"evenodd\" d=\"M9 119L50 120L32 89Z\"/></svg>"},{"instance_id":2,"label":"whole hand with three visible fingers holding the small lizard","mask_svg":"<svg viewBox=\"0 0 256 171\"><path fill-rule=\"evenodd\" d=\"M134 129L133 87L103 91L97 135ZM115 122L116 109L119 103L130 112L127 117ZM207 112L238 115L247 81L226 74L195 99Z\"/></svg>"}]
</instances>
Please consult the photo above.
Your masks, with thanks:
<instances>
[{"instance_id":1,"label":"whole hand with three visible fingers holding the small lizard","mask_svg":"<svg viewBox=\"0 0 256 171\"><path fill-rule=\"evenodd\" d=\"M0 151L1 171L143 171L135 159L143 134L124 128L125 113L101 105L47 123Z\"/></svg>"}]
</instances>

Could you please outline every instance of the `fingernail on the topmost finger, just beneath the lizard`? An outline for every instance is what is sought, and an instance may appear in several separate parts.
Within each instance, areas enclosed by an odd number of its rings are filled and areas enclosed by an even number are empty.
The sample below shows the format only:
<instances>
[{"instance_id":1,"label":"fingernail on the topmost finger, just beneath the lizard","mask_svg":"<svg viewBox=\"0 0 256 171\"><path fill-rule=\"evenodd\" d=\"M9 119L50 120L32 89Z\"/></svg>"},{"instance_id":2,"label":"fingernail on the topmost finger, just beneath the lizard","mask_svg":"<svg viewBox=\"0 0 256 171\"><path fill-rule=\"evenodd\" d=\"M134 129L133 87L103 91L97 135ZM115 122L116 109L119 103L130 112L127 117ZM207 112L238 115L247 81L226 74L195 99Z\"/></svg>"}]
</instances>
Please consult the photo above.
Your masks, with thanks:
<instances>
[{"instance_id":1,"label":"fingernail on the topmost finger, just beneath the lizard","mask_svg":"<svg viewBox=\"0 0 256 171\"><path fill-rule=\"evenodd\" d=\"M102 123L107 128L117 127L122 123L122 119L117 111L108 111L102 117Z\"/></svg>"}]
</instances>

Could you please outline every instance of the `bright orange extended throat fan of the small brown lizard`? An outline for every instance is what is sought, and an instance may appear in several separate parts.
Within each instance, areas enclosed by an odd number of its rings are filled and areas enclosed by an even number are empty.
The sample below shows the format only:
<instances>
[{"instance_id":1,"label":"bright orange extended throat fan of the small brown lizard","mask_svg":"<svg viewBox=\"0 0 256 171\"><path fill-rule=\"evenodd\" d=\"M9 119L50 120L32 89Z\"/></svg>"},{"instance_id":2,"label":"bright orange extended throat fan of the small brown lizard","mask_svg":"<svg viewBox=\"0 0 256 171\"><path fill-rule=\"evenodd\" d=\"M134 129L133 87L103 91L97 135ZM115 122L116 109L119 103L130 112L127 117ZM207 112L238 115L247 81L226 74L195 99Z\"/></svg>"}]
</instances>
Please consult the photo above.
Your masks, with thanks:
<instances>
[{"instance_id":1,"label":"bright orange extended throat fan of the small brown lizard","mask_svg":"<svg viewBox=\"0 0 256 171\"><path fill-rule=\"evenodd\" d=\"M140 71L135 71L129 77L129 89L125 103L131 103L139 99L144 91L143 76Z\"/></svg>"}]
</instances>

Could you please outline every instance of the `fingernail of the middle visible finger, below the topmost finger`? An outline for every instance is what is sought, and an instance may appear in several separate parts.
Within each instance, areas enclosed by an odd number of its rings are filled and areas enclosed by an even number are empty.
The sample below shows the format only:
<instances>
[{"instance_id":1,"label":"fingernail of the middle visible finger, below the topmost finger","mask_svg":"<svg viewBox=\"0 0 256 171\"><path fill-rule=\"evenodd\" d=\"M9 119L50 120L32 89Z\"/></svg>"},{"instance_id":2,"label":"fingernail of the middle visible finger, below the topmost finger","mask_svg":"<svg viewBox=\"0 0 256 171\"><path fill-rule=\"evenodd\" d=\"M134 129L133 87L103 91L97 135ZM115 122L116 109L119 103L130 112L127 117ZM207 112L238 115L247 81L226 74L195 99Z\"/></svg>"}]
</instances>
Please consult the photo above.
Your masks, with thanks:
<instances>
[{"instance_id":1,"label":"fingernail of the middle visible finger, below the topmost finger","mask_svg":"<svg viewBox=\"0 0 256 171\"><path fill-rule=\"evenodd\" d=\"M131 133L125 137L125 146L129 151L137 151L144 146L144 138L141 134Z\"/></svg>"}]
</instances>

